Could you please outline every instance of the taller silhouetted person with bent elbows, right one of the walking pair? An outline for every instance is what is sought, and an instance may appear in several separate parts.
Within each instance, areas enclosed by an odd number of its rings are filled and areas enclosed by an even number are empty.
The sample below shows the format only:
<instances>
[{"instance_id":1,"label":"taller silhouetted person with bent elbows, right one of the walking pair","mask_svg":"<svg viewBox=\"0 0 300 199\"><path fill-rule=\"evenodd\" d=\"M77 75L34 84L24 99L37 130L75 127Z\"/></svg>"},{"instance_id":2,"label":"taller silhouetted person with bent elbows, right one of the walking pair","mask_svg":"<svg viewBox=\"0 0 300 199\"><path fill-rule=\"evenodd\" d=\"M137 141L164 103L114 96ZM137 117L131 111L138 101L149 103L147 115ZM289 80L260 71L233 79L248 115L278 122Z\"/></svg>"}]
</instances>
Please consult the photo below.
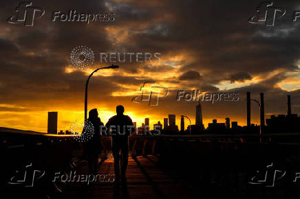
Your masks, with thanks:
<instances>
[{"instance_id":1,"label":"taller silhouetted person with bent elbows, right one of the walking pair","mask_svg":"<svg viewBox=\"0 0 300 199\"><path fill-rule=\"evenodd\" d=\"M116 107L117 115L111 117L105 125L108 130L111 130L112 151L114 156L114 169L116 175L116 182L121 177L122 182L126 182L126 169L128 163L128 136L134 132L134 126L131 118L124 115L124 107L119 105ZM120 156L121 151L121 156ZM121 169L119 166L121 162ZM120 172L121 170L121 172Z\"/></svg>"}]
</instances>

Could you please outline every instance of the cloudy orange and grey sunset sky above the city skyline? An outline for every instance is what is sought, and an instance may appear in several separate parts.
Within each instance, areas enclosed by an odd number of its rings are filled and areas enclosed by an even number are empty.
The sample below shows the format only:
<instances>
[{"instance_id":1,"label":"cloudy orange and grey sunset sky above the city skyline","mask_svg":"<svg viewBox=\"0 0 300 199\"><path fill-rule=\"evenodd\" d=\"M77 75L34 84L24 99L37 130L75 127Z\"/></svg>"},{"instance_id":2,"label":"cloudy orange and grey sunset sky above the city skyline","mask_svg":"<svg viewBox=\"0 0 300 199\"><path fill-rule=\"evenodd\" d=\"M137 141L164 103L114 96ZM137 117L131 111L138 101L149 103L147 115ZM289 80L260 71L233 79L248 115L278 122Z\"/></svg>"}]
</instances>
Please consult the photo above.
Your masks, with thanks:
<instances>
[{"instance_id":1,"label":"cloudy orange and grey sunset sky above the city skyline","mask_svg":"<svg viewBox=\"0 0 300 199\"><path fill-rule=\"evenodd\" d=\"M120 68L98 71L89 82L88 109L98 108L104 123L122 104L138 126L145 117L151 127L163 123L169 114L176 115L179 128L180 115L195 124L197 102L176 101L178 89L240 93L238 102L202 102L205 127L226 117L246 125L247 91L256 100L265 93L266 118L286 114L286 95L292 95L292 113L300 112L300 23L288 17L274 27L248 23L260 1L235 1L235 6L228 1L34 1L45 15L32 27L6 23L18 3L5 1L0 8L0 126L47 132L47 112L58 111L58 130L69 130L84 117L89 73L111 64ZM298 4L282 6L297 10ZM70 9L112 12L115 21L51 21L54 10ZM94 51L87 69L70 60L72 49L81 45ZM160 53L160 61L103 63L101 52ZM157 82L170 93L158 106L131 102L144 82ZM251 110L252 123L259 124L257 104Z\"/></svg>"}]
</instances>

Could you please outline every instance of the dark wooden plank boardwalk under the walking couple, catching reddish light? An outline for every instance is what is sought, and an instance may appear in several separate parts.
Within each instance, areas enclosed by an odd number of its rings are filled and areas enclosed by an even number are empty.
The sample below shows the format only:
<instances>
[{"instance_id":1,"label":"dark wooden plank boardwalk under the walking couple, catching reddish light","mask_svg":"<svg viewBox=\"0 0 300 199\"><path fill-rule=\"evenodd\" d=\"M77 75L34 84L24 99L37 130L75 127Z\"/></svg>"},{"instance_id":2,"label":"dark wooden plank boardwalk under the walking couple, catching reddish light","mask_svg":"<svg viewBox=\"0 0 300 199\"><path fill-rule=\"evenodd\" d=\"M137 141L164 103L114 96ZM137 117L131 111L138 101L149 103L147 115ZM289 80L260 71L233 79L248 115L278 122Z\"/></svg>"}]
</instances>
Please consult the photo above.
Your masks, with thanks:
<instances>
[{"instance_id":1,"label":"dark wooden plank boardwalk under the walking couple, catching reddish light","mask_svg":"<svg viewBox=\"0 0 300 199\"><path fill-rule=\"evenodd\" d=\"M92 185L72 183L61 195L62 198L200 198L192 196L176 180L162 172L156 163L158 156L129 156L127 183L94 182ZM77 174L87 174L87 163L76 170ZM114 159L100 163L98 174L114 174Z\"/></svg>"}]
</instances>

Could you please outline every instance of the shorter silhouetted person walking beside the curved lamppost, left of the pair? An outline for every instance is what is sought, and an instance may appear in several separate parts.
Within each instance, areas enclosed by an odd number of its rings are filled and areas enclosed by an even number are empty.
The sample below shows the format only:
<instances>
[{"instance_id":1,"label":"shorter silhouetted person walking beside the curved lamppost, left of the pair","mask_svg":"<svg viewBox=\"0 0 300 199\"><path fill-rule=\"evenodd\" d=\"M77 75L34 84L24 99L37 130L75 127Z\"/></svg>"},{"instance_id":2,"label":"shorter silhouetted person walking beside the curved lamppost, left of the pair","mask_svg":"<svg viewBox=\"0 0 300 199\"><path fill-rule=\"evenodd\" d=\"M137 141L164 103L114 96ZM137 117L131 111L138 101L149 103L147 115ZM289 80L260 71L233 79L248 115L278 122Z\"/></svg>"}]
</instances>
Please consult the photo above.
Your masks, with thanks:
<instances>
[{"instance_id":1,"label":"shorter silhouetted person walking beside the curved lamppost, left of the pair","mask_svg":"<svg viewBox=\"0 0 300 199\"><path fill-rule=\"evenodd\" d=\"M101 152L100 126L104 125L98 117L97 108L89 110L89 118L87 119L87 121L92 123L94 126L94 135L86 143L87 161L89 162L89 174L97 174L98 155Z\"/></svg>"}]
</instances>

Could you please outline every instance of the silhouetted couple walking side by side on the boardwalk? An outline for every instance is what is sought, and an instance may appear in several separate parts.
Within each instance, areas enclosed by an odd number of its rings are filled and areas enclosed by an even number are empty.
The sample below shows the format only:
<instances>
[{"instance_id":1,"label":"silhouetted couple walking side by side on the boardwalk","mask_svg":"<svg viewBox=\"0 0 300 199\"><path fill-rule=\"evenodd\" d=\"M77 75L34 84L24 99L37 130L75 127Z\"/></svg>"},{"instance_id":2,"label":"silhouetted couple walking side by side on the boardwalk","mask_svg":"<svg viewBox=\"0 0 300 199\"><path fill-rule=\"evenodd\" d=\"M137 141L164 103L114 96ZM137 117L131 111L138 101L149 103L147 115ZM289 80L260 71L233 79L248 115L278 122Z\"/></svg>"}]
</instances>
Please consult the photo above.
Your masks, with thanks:
<instances>
[{"instance_id":1,"label":"silhouetted couple walking side by side on the boardwalk","mask_svg":"<svg viewBox=\"0 0 300 199\"><path fill-rule=\"evenodd\" d=\"M100 151L97 150L100 149L100 126L103 126L100 118L98 118L97 110L96 113L94 113L95 110L96 108L89 111L89 119L87 119L92 122L95 129L94 137L90 141L91 145L94 146L89 147L89 151L87 151L88 156L90 156L91 159L94 159L92 161L89 159L89 168L91 168L89 169L89 172L94 174L97 172L98 154L100 153ZM93 111L92 115L90 114L91 111ZM122 105L116 107L116 113L117 115L111 117L105 126L107 128L107 134L111 134L116 182L120 179L122 182L126 182L126 169L129 153L128 137L132 134L131 127L133 127L133 122L129 116L124 115L124 107ZM133 130L133 133L134 132L135 130ZM93 141L94 139L97 139L99 142Z\"/></svg>"}]
</instances>

